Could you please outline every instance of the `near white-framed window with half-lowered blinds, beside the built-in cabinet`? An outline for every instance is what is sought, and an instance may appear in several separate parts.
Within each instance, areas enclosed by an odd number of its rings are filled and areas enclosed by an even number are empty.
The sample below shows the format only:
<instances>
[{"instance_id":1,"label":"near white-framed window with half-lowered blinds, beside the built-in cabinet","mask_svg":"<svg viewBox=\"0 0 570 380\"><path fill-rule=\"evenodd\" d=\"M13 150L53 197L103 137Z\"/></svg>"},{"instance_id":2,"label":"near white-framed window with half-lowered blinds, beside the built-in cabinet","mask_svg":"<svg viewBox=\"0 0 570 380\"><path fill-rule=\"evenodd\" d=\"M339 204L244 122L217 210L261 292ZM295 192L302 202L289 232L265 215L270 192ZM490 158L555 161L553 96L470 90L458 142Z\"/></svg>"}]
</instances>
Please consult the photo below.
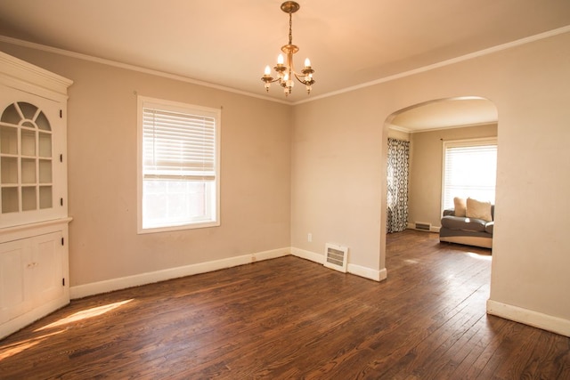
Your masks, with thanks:
<instances>
[{"instance_id":1,"label":"near white-framed window with half-lowered blinds, beside the built-in cabinet","mask_svg":"<svg viewBox=\"0 0 570 380\"><path fill-rule=\"evenodd\" d=\"M220 114L138 98L139 233L220 224Z\"/></svg>"}]
</instances>

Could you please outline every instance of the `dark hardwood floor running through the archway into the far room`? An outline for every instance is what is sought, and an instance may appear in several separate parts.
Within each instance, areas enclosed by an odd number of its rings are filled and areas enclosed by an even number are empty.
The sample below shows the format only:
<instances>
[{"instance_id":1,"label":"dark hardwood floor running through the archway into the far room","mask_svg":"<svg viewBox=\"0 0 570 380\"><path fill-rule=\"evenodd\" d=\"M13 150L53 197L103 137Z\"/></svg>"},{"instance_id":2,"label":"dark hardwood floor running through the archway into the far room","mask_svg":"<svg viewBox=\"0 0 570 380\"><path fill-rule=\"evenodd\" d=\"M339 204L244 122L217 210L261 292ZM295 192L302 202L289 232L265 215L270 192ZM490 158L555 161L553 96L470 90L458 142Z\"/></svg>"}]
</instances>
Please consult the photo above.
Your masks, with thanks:
<instances>
[{"instance_id":1,"label":"dark hardwood floor running through the archway into the far room","mask_svg":"<svg viewBox=\"0 0 570 380\"><path fill-rule=\"evenodd\" d=\"M0 378L570 379L570 338L485 314L489 250L387 241L380 283L288 256L73 301Z\"/></svg>"}]
</instances>

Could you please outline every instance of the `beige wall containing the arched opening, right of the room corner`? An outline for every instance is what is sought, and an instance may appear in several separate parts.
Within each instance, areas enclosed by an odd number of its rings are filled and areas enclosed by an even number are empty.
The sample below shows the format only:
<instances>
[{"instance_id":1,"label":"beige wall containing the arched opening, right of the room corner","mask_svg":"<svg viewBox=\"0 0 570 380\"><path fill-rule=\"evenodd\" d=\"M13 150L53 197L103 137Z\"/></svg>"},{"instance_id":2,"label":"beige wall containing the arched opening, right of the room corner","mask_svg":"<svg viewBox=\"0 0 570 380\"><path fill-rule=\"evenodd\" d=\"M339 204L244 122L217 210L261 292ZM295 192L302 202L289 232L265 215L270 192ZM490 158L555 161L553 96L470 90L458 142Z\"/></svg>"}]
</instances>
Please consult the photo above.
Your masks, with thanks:
<instances>
[{"instance_id":1,"label":"beige wall containing the arched opening, right of the room corner","mask_svg":"<svg viewBox=\"0 0 570 380\"><path fill-rule=\"evenodd\" d=\"M291 245L322 252L338 241L351 247L349 262L381 270L385 120L423 101L480 96L499 114L491 300L561 321L570 335L570 214L553 212L570 209L568 83L566 33L296 106Z\"/></svg>"}]
</instances>

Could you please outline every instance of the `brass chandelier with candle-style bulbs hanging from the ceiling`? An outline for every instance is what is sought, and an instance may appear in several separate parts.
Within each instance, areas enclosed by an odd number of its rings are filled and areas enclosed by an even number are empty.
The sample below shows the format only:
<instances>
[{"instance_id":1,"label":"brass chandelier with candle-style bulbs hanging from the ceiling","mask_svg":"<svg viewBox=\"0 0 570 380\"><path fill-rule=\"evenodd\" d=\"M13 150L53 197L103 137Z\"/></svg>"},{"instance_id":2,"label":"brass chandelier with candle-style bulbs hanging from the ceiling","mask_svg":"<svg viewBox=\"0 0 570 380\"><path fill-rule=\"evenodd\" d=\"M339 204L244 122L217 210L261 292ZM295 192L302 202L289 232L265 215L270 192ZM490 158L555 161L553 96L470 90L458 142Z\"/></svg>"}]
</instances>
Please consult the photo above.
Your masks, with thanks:
<instances>
[{"instance_id":1,"label":"brass chandelier with candle-style bulbs hanging from the ceiling","mask_svg":"<svg viewBox=\"0 0 570 380\"><path fill-rule=\"evenodd\" d=\"M293 91L293 85L295 81L293 77L297 78L299 82L306 86L306 93L311 93L311 85L314 85L313 73L314 69L311 69L311 61L307 58L305 60L305 68L301 70L301 73L297 73L293 66L293 54L299 51L299 48L293 44L293 13L297 12L301 6L294 1L286 1L281 4L281 11L289 13L289 44L281 46L281 52L287 54L287 64L284 64L283 54L279 54L277 58L277 65L273 68L277 72L277 77L273 79L271 76L271 68L265 66L265 74L261 78L265 82L265 90L269 93L269 87L273 82L279 82L279 85L283 87L285 96Z\"/></svg>"}]
</instances>

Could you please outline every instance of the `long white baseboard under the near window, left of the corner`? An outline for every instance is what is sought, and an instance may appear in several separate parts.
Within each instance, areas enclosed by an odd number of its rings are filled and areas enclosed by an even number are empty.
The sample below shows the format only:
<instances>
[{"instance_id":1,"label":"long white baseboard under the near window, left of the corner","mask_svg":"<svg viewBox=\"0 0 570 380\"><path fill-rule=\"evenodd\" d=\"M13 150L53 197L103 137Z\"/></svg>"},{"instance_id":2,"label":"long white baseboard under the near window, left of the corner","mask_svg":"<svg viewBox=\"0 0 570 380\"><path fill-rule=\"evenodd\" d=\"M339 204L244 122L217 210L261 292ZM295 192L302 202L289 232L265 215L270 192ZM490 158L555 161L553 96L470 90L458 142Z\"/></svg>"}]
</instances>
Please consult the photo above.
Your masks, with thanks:
<instances>
[{"instance_id":1,"label":"long white baseboard under the near window, left of the corner","mask_svg":"<svg viewBox=\"0 0 570 380\"><path fill-rule=\"evenodd\" d=\"M77 299L88 295L99 295L102 293L112 292L114 290L125 289L126 287L138 287L141 285L151 284L153 282L165 281L167 279L177 279L194 274L206 273L208 271L218 271L221 269L231 268L247 263L255 263L257 261L273 259L286 255L290 255L289 247L258 252L250 255L230 257L207 263L197 263L182 267L169 268L162 271L151 271L119 279L92 282L90 284L70 287L69 292L71 299Z\"/></svg>"}]
</instances>

